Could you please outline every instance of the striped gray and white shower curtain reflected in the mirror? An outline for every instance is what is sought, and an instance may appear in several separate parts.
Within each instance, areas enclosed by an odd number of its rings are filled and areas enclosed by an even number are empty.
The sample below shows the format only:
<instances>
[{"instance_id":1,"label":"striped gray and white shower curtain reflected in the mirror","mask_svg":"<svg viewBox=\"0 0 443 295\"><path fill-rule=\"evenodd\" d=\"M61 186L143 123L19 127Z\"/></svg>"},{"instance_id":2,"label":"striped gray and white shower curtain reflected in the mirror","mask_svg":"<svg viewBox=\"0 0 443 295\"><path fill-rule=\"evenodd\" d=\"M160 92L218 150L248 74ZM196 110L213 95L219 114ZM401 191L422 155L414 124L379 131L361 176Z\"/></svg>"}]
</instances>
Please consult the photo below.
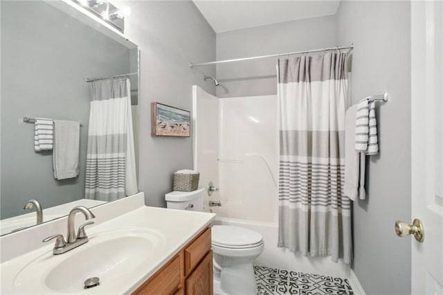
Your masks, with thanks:
<instances>
[{"instance_id":1,"label":"striped gray and white shower curtain reflected in the mirror","mask_svg":"<svg viewBox=\"0 0 443 295\"><path fill-rule=\"evenodd\" d=\"M90 82L86 198L112 201L138 192L127 78Z\"/></svg>"}]
</instances>

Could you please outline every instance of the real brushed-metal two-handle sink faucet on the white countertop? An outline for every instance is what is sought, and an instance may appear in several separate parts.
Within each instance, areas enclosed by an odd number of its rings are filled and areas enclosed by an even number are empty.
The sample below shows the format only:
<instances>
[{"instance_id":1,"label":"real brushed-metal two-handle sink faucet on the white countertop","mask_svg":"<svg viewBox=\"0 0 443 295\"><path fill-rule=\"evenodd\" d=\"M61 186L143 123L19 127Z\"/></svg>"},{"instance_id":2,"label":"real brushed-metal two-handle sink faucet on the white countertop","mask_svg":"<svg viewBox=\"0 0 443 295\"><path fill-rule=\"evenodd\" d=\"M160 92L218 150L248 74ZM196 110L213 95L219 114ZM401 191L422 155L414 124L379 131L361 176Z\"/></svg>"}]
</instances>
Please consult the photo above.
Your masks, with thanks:
<instances>
[{"instance_id":1,"label":"real brushed-metal two-handle sink faucet on the white countertop","mask_svg":"<svg viewBox=\"0 0 443 295\"><path fill-rule=\"evenodd\" d=\"M54 238L56 239L53 249L54 255L65 253L88 242L88 236L84 231L84 227L93 224L93 222L86 222L80 225L77 235L75 235L75 214L77 214L78 212L83 213L84 217L86 217L87 220L96 217L96 215L93 215L93 213L84 206L75 206L74 208L72 208L71 212L69 212L68 215L68 233L66 234L68 240L65 241L61 233L51 235L50 237L43 240L43 242L48 242Z\"/></svg>"}]
</instances>

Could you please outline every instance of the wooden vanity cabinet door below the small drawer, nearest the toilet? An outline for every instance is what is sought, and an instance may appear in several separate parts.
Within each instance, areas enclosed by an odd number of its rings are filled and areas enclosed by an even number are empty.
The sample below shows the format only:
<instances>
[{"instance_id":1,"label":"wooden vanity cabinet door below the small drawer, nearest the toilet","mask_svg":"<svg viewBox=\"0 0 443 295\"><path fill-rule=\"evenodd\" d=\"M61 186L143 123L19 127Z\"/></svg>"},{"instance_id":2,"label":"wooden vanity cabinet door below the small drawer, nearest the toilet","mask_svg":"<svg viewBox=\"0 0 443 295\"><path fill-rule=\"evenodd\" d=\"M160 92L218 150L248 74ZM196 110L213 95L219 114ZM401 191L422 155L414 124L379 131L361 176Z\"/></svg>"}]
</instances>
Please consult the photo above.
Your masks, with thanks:
<instances>
[{"instance_id":1,"label":"wooden vanity cabinet door below the small drawer, nearest the toilet","mask_svg":"<svg viewBox=\"0 0 443 295\"><path fill-rule=\"evenodd\" d=\"M213 295L213 251L186 278L186 295Z\"/></svg>"}]
</instances>

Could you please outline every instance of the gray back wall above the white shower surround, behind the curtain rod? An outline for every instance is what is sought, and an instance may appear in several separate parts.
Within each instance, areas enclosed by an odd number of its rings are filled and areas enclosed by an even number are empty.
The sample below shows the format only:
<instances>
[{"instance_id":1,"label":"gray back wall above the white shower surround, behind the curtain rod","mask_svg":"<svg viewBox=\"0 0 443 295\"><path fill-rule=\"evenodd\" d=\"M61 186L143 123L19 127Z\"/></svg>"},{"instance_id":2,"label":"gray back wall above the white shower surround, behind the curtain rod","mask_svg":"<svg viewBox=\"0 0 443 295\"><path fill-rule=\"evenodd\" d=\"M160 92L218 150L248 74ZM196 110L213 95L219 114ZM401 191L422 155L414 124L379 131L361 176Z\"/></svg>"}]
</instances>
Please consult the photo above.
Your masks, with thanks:
<instances>
[{"instance_id":1,"label":"gray back wall above the white shower surround, behind the curtain rod","mask_svg":"<svg viewBox=\"0 0 443 295\"><path fill-rule=\"evenodd\" d=\"M217 34L217 60L336 46L334 15ZM217 96L277 93L277 57L217 64Z\"/></svg>"}]
</instances>

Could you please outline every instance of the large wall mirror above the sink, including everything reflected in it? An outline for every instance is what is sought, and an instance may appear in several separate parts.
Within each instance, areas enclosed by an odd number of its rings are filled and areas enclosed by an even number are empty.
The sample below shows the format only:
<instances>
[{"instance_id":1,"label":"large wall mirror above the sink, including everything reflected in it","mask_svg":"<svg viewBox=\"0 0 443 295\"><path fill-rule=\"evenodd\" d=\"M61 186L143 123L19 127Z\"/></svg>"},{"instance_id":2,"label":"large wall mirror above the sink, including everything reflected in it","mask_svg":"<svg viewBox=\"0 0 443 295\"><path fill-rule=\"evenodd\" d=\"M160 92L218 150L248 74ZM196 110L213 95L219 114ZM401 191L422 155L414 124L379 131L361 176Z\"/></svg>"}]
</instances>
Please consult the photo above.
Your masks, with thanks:
<instances>
[{"instance_id":1,"label":"large wall mirror above the sink, including everything reflected in it","mask_svg":"<svg viewBox=\"0 0 443 295\"><path fill-rule=\"evenodd\" d=\"M138 191L138 47L61 4L1 1L2 235Z\"/></svg>"}]
</instances>

